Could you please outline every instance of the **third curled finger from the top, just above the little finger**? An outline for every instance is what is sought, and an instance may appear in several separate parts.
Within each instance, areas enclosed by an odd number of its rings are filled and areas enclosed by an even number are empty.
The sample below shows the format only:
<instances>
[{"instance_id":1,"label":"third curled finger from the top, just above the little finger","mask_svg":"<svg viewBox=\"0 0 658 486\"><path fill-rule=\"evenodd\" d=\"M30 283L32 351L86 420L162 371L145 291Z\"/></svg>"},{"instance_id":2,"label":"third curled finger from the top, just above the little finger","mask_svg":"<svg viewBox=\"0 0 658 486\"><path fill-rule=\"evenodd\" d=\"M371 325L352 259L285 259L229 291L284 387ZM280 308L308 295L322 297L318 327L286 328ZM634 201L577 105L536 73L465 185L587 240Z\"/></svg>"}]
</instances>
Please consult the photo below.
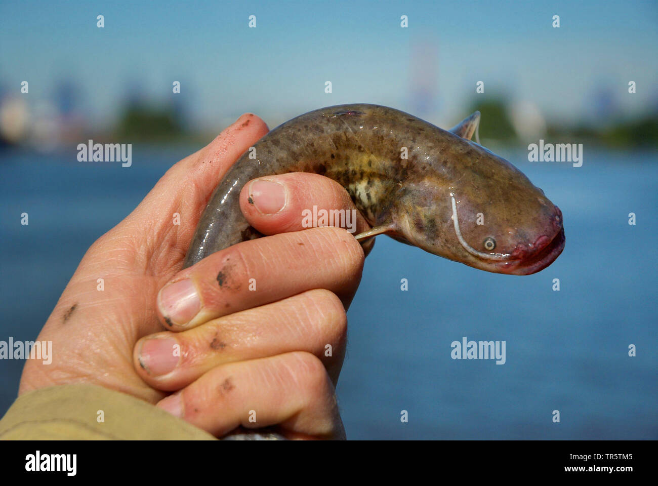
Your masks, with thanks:
<instances>
[{"instance_id":1,"label":"third curled finger from the top, just above the little finger","mask_svg":"<svg viewBox=\"0 0 658 486\"><path fill-rule=\"evenodd\" d=\"M336 385L346 333L347 316L336 294L309 290L188 331L141 338L135 369L151 387L174 391L218 365L305 351L322 361Z\"/></svg>"}]
</instances>

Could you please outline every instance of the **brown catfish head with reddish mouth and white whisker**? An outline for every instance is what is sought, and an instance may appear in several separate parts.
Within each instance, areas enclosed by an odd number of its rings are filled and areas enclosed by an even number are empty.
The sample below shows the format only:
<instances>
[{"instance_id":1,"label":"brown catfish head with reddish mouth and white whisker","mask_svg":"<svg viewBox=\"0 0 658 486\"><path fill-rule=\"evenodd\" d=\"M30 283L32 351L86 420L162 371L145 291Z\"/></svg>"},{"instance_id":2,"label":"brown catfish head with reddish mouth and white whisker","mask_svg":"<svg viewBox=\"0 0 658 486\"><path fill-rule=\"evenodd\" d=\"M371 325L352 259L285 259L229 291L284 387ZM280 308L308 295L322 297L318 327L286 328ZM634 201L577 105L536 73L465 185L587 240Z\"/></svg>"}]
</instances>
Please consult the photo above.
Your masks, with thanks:
<instances>
[{"instance_id":1,"label":"brown catfish head with reddish mouth and white whisker","mask_svg":"<svg viewBox=\"0 0 658 486\"><path fill-rule=\"evenodd\" d=\"M402 188L397 238L493 273L553 263L565 247L560 209L507 160L450 136L432 170Z\"/></svg>"}]
</instances>

